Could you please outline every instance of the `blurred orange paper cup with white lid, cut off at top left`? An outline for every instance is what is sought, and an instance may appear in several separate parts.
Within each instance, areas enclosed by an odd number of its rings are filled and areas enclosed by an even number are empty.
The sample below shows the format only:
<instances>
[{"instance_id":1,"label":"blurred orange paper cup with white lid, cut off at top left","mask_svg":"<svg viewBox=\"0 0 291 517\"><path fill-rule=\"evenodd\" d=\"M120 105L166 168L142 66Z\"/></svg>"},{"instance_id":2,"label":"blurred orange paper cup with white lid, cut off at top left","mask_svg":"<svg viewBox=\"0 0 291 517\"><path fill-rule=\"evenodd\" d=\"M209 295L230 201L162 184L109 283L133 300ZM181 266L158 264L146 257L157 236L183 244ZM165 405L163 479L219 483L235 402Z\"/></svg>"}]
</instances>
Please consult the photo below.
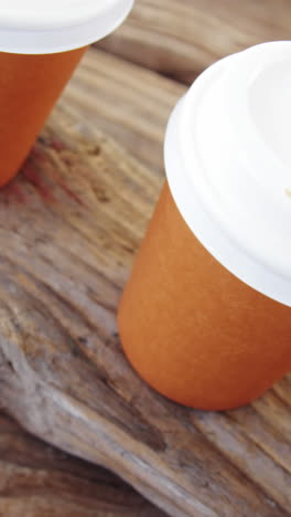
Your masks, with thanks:
<instances>
[{"instance_id":1,"label":"blurred orange paper cup with white lid, cut off at top left","mask_svg":"<svg viewBox=\"0 0 291 517\"><path fill-rule=\"evenodd\" d=\"M0 7L0 187L24 161L86 48L133 0L9 0Z\"/></svg>"}]
</instances>

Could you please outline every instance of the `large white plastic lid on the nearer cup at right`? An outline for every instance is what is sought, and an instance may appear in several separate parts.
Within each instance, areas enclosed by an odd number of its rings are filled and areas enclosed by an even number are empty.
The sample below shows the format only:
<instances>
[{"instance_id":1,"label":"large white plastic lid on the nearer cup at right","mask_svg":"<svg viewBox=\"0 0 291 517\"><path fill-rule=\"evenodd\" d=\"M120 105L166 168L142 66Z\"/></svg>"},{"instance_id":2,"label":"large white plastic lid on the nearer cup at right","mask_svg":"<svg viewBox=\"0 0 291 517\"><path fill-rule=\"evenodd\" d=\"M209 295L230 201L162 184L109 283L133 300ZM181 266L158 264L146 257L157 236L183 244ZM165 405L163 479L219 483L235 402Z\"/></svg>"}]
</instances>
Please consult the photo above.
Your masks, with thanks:
<instances>
[{"instance_id":1,"label":"large white plastic lid on the nearer cup at right","mask_svg":"<svg viewBox=\"0 0 291 517\"><path fill-rule=\"evenodd\" d=\"M205 71L170 118L165 168L202 244L291 306L291 42L256 45Z\"/></svg>"}]
</instances>

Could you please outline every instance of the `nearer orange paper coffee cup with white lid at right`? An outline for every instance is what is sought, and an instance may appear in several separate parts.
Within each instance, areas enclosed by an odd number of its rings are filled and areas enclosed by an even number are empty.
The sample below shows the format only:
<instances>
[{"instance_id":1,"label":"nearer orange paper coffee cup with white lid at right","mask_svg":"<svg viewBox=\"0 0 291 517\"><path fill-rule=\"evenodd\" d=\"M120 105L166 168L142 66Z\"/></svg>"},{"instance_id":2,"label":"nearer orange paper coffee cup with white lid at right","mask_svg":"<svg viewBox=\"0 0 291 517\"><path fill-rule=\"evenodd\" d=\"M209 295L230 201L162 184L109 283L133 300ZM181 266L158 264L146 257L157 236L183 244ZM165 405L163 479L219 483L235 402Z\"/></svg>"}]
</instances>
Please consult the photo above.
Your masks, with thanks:
<instances>
[{"instance_id":1,"label":"nearer orange paper coffee cup with white lid at right","mask_svg":"<svg viewBox=\"0 0 291 517\"><path fill-rule=\"evenodd\" d=\"M291 370L291 42L230 55L177 103L168 180L118 315L140 376L226 410Z\"/></svg>"}]
</instances>

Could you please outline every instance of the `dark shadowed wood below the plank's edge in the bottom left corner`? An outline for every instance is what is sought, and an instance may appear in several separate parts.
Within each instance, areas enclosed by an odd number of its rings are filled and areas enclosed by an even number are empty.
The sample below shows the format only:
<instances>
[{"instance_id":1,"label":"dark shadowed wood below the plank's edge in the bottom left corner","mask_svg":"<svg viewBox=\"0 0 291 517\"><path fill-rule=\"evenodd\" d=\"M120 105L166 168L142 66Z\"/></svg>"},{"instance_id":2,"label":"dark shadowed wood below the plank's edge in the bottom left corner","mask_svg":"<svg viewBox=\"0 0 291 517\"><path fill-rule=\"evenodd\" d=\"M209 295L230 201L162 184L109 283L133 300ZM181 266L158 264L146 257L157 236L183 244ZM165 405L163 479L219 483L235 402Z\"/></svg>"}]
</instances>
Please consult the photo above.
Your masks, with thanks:
<instances>
[{"instance_id":1,"label":"dark shadowed wood below the plank's edge in the bottom left corner","mask_svg":"<svg viewBox=\"0 0 291 517\"><path fill-rule=\"evenodd\" d=\"M3 517L162 517L109 471L29 435L0 411Z\"/></svg>"}]
</instances>

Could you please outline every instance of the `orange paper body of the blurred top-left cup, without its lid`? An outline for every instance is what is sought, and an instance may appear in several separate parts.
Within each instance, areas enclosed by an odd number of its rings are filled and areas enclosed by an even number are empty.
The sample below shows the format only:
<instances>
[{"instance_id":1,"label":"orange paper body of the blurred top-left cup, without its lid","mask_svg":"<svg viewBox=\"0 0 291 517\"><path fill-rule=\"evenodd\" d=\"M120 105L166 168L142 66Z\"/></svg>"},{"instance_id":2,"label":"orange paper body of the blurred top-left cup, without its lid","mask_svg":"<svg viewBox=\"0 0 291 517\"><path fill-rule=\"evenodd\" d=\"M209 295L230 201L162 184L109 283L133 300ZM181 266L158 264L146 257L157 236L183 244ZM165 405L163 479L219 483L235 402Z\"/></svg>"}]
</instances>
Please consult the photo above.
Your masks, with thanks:
<instances>
[{"instance_id":1,"label":"orange paper body of the blurred top-left cup, without its lid","mask_svg":"<svg viewBox=\"0 0 291 517\"><path fill-rule=\"evenodd\" d=\"M21 167L85 50L0 53L0 187Z\"/></svg>"}]
</instances>

